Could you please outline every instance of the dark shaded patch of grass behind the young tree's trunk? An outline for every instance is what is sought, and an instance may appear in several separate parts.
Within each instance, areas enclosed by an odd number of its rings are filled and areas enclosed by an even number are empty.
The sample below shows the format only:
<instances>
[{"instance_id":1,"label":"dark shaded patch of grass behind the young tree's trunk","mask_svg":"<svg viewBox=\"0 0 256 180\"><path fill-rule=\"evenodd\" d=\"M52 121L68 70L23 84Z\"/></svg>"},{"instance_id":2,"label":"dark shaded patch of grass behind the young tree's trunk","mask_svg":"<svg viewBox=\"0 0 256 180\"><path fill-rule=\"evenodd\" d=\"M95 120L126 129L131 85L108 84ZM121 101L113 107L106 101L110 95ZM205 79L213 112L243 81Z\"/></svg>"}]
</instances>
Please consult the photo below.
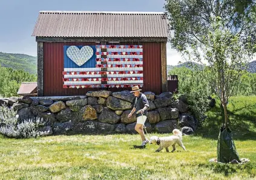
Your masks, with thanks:
<instances>
[{"instance_id":1,"label":"dark shaded patch of grass behind the young tree's trunk","mask_svg":"<svg viewBox=\"0 0 256 180\"><path fill-rule=\"evenodd\" d=\"M256 140L256 104L244 108L228 110L229 128L232 130L234 140ZM204 138L217 140L220 126L224 123L224 112L220 104L216 104L208 112L208 117L202 122L195 133Z\"/></svg>"}]
</instances>

